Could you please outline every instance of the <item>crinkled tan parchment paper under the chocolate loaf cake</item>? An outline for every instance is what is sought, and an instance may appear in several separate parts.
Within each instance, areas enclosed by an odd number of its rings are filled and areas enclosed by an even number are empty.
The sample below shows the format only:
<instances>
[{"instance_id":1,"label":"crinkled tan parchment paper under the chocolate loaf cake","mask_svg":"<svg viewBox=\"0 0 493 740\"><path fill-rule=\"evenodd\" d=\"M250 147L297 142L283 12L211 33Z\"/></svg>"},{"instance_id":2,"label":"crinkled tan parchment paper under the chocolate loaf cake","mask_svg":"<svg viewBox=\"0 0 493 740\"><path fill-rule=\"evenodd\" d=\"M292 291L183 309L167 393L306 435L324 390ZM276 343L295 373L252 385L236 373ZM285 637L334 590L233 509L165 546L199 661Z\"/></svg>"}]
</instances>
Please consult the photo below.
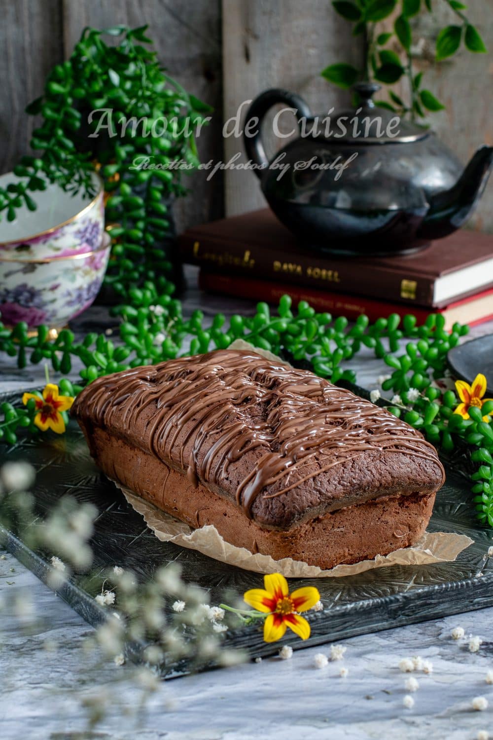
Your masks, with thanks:
<instances>
[{"instance_id":1,"label":"crinkled tan parchment paper under the chocolate loaf cake","mask_svg":"<svg viewBox=\"0 0 493 740\"><path fill-rule=\"evenodd\" d=\"M255 351L256 354L262 354L268 360L290 366L272 352L257 349L244 340L234 341L231 349ZM377 555L373 560L362 560L355 565L336 565L336 568L330 571L322 571L317 565L307 565L306 562L299 560L291 558L274 560L270 555L252 554L245 548L237 548L225 542L217 529L211 525L191 529L184 522L165 514L127 488L123 488L118 483L116 485L123 491L123 495L132 508L142 514L148 527L161 542L173 542L174 545L197 550L203 555L226 562L228 565L236 565L237 568L243 568L245 571L282 573L286 578L335 578L390 565L429 565L434 562L453 562L458 554L474 542L464 534L425 532L412 548L401 548L390 555Z\"/></svg>"}]
</instances>

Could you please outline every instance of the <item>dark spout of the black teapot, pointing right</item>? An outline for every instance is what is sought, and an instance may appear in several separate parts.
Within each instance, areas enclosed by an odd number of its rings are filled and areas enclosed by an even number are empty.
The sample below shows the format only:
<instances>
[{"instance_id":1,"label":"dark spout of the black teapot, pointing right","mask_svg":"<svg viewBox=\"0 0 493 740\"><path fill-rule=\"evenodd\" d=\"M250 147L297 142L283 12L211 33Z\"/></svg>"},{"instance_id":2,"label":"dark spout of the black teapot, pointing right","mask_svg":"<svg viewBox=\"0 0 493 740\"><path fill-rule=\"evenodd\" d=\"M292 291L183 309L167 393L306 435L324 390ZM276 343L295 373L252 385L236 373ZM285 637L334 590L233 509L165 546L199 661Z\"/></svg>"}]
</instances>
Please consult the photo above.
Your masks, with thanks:
<instances>
[{"instance_id":1,"label":"dark spout of the black teapot, pointing right","mask_svg":"<svg viewBox=\"0 0 493 740\"><path fill-rule=\"evenodd\" d=\"M441 239L460 229L475 209L493 167L493 147L481 147L466 166L458 182L435 195L421 223L418 237Z\"/></svg>"}]
</instances>

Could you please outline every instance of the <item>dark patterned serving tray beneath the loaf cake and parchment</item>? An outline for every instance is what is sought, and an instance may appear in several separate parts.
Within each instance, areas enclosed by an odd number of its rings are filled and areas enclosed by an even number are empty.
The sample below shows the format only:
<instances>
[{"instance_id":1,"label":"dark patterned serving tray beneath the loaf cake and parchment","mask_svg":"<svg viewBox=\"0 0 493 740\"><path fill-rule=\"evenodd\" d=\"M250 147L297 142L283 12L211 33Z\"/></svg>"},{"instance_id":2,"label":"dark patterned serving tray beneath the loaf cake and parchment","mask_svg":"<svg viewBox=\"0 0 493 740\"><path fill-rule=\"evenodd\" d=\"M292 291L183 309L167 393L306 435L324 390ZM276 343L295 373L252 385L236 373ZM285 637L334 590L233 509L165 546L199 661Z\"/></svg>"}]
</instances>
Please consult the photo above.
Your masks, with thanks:
<instances>
[{"instance_id":1,"label":"dark patterned serving tray beneath the loaf cake and parchment","mask_svg":"<svg viewBox=\"0 0 493 740\"><path fill-rule=\"evenodd\" d=\"M358 386L349 387L361 396L368 395ZM0 400L18 403L18 394L3 394ZM262 576L257 573L160 542L140 514L126 502L121 491L95 467L84 437L73 421L62 437L24 438L12 448L0 445L0 466L7 460L26 460L35 468L33 495L37 523L42 524L50 508L67 494L78 502L91 502L98 508L91 541L96 575L88 579L86 575L75 574L57 590L58 595L91 625L98 625L105 619L105 610L94 599L101 589L101 576L97 576L113 565L130 568L138 577L149 579L160 565L179 562L183 578L210 592L211 604L220 603L225 593L231 599L231 593L241 597L248 588L262 587ZM474 540L455 562L378 568L356 576L314 579L313 582L304 579L304 585L312 583L319 589L324 610L308 616L312 628L310 639L302 642L287 634L283 643L300 649L493 605L493 559L487 555L492 532L481 528L475 519L469 480L457 469L461 466L463 460L459 457L454 469L446 462L446 483L438 493L428 528L429 531L466 534ZM32 551L1 525L0 542L38 578L47 582L48 554ZM301 581L290 579L292 589L298 588L299 583ZM279 644L263 642L262 631L255 626L239 625L237 629L228 630L224 633L224 642L227 647L248 650L252 657L273 655L279 650ZM139 660L142 647L129 646L129 657ZM177 676L187 670L186 662L169 662L163 665L162 672L163 676Z\"/></svg>"}]
</instances>

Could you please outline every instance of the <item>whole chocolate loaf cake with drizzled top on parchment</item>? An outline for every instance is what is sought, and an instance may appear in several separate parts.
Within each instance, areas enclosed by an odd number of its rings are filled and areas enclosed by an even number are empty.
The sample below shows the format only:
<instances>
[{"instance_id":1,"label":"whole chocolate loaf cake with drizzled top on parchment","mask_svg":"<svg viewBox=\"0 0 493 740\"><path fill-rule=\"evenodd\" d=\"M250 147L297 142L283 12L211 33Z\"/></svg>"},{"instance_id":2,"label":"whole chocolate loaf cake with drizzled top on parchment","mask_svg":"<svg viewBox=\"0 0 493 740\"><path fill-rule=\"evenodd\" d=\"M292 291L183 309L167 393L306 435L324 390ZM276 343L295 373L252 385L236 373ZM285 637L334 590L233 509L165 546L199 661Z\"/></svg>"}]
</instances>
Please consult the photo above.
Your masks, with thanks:
<instances>
[{"instance_id":1,"label":"whole chocolate loaf cake with drizzled top on parchment","mask_svg":"<svg viewBox=\"0 0 493 740\"><path fill-rule=\"evenodd\" d=\"M72 413L110 478L192 528L320 568L416 542L444 478L408 424L253 351L101 377Z\"/></svg>"}]
</instances>

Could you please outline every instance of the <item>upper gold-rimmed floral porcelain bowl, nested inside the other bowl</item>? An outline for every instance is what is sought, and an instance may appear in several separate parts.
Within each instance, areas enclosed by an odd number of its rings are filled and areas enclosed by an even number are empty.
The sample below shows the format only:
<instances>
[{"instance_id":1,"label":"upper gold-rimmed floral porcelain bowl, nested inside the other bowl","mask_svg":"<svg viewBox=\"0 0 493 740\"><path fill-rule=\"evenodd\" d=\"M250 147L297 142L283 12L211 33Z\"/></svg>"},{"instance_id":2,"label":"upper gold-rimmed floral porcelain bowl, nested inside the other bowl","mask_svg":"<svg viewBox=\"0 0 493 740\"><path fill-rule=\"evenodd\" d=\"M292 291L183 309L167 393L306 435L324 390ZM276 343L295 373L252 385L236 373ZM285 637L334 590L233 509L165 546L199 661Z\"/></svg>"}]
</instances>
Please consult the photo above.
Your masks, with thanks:
<instances>
[{"instance_id":1,"label":"upper gold-rimmed floral porcelain bowl, nested inside the other bowl","mask_svg":"<svg viewBox=\"0 0 493 740\"><path fill-rule=\"evenodd\" d=\"M95 195L72 195L58 185L35 193L38 206L21 206L14 221L0 221L0 259L38 260L69 257L98 249L104 229L103 184L94 174ZM0 186L18 181L12 172L1 175Z\"/></svg>"}]
</instances>

